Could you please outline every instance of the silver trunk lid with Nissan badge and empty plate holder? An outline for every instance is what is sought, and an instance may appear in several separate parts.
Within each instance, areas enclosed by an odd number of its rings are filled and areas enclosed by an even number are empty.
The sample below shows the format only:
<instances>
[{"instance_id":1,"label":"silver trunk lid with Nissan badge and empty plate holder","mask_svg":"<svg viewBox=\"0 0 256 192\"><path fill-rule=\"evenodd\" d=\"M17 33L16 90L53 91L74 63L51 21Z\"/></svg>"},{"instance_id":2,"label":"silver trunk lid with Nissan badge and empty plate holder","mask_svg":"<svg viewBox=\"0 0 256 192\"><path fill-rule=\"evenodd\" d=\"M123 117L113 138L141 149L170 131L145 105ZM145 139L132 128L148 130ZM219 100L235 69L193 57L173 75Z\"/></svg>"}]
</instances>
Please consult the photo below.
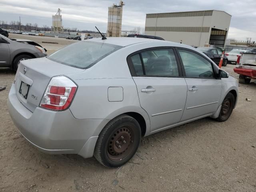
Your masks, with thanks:
<instances>
[{"instance_id":1,"label":"silver trunk lid with Nissan badge and empty plate holder","mask_svg":"<svg viewBox=\"0 0 256 192\"><path fill-rule=\"evenodd\" d=\"M23 60L15 77L17 97L28 110L34 112L53 76L82 71L84 69L66 66L47 58Z\"/></svg>"}]
</instances>

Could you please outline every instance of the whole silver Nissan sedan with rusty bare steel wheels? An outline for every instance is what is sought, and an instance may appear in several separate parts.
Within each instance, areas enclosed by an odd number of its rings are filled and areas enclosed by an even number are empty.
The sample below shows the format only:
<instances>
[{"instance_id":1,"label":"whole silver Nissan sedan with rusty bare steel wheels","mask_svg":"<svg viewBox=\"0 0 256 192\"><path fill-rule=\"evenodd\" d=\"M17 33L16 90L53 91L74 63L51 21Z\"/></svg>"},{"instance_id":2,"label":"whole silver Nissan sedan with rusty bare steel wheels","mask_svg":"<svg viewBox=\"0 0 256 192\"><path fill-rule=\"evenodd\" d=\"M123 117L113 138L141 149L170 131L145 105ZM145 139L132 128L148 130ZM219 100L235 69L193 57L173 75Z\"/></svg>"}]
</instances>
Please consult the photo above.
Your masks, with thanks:
<instances>
[{"instance_id":1,"label":"whole silver Nissan sedan with rusty bare steel wheels","mask_svg":"<svg viewBox=\"0 0 256 192\"><path fill-rule=\"evenodd\" d=\"M226 121L237 98L237 80L191 46L92 38L21 61L8 110L41 151L119 167L141 136L207 116Z\"/></svg>"}]
</instances>

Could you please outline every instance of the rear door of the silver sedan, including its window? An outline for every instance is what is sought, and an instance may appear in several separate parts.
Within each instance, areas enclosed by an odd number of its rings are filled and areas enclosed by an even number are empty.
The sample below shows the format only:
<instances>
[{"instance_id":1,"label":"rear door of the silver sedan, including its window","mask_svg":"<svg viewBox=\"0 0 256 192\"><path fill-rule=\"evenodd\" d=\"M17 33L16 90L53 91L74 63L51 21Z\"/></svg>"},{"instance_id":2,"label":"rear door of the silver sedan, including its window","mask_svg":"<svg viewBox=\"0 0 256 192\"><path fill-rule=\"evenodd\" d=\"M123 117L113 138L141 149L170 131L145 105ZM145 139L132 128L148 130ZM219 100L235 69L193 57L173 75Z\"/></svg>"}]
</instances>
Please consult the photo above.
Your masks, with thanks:
<instances>
[{"instance_id":1,"label":"rear door of the silver sedan, including its window","mask_svg":"<svg viewBox=\"0 0 256 192\"><path fill-rule=\"evenodd\" d=\"M150 131L180 122L187 96L173 48L135 52L127 61L136 83L141 107L150 117Z\"/></svg>"}]
</instances>

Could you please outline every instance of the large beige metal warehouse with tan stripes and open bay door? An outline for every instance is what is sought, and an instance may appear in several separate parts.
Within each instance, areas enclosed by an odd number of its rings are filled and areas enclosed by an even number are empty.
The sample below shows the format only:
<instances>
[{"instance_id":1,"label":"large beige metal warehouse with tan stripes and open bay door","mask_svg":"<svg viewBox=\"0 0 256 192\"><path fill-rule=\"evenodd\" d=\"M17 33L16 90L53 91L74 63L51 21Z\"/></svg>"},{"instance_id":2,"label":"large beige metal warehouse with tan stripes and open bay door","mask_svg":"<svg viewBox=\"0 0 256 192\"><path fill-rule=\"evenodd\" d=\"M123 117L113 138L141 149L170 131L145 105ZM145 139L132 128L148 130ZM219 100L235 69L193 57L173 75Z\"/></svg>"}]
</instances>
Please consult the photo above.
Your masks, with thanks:
<instances>
[{"instance_id":1,"label":"large beige metal warehouse with tan stripes and open bay door","mask_svg":"<svg viewBox=\"0 0 256 192\"><path fill-rule=\"evenodd\" d=\"M224 47L231 15L224 11L146 14L145 34L191 46Z\"/></svg>"}]
</instances>

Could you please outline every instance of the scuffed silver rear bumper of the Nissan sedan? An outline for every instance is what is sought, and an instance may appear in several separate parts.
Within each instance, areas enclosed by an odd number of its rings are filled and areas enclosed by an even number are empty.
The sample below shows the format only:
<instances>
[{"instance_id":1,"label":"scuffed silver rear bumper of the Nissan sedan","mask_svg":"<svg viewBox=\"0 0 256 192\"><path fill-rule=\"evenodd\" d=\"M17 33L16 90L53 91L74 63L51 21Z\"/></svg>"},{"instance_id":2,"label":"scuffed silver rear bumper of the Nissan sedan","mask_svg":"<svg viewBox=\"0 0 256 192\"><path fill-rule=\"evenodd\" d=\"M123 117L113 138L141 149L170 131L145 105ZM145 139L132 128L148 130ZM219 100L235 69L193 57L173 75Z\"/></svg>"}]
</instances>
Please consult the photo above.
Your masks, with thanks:
<instances>
[{"instance_id":1,"label":"scuffed silver rear bumper of the Nissan sedan","mask_svg":"<svg viewBox=\"0 0 256 192\"><path fill-rule=\"evenodd\" d=\"M12 86L8 110L20 133L39 150L48 154L81 154L92 157L98 134L108 120L74 118L70 110L56 112L37 107L32 113L23 106Z\"/></svg>"}]
</instances>

